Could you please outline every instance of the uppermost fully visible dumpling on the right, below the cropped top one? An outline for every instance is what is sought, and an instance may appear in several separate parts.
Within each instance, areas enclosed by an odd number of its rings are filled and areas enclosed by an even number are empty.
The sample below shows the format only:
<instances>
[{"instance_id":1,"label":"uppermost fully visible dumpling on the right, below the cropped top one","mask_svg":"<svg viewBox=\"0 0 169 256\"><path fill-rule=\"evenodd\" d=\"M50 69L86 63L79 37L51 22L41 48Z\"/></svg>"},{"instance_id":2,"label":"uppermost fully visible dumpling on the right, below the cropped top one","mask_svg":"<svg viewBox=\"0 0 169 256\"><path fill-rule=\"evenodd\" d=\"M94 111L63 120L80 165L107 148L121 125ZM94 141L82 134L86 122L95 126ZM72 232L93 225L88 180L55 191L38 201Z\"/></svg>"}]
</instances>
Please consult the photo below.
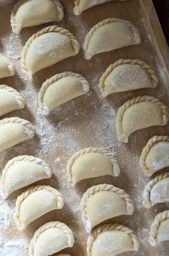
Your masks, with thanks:
<instances>
[{"instance_id":1,"label":"uppermost fully visible dumpling on the right, below the cropped top one","mask_svg":"<svg viewBox=\"0 0 169 256\"><path fill-rule=\"evenodd\" d=\"M140 43L140 32L131 22L109 18L99 22L88 32L83 46L84 57L90 60L100 52Z\"/></svg>"}]
</instances>

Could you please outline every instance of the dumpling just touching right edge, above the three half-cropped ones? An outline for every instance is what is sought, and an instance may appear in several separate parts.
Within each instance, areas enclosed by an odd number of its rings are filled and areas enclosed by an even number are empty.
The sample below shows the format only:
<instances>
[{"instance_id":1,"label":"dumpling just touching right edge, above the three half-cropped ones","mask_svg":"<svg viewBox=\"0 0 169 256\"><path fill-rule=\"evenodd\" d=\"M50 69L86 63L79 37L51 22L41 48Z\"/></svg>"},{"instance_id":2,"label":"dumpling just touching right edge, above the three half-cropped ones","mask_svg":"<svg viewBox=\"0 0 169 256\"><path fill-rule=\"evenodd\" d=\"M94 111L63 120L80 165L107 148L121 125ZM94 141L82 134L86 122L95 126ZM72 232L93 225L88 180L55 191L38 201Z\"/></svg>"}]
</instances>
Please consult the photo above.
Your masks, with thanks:
<instances>
[{"instance_id":1,"label":"dumpling just touching right edge, above the three half-cropped ones","mask_svg":"<svg viewBox=\"0 0 169 256\"><path fill-rule=\"evenodd\" d=\"M138 96L125 102L117 112L116 131L118 140L128 142L130 134L154 125L166 125L168 108L152 96Z\"/></svg>"}]
</instances>

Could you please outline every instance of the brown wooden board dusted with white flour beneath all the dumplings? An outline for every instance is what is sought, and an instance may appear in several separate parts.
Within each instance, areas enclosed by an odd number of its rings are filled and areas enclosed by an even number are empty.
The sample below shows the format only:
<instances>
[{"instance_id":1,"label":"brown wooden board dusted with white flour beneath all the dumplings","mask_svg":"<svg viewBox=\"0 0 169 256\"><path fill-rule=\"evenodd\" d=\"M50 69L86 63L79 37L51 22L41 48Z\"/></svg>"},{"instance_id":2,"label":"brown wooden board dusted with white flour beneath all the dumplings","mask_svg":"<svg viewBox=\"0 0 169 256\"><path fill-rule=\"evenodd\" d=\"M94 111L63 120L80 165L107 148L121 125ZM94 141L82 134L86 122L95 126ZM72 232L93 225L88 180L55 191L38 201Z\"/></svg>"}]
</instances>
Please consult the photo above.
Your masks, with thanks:
<instances>
[{"instance_id":1,"label":"brown wooden board dusted with white flour beneath all the dumplings","mask_svg":"<svg viewBox=\"0 0 169 256\"><path fill-rule=\"evenodd\" d=\"M19 36L14 35L10 26L10 13L13 4L0 7L0 53L16 64L14 77L1 79L1 84L8 84L19 90L25 98L26 106L22 111L14 111L5 117L19 116L28 119L35 126L35 137L0 153L0 169L8 160L21 154L31 154L46 160L54 172L50 180L42 180L37 184L47 184L58 189L65 197L62 210L49 212L31 223L23 232L17 231L14 221L4 230L4 239L22 238L30 241L35 230L48 221L62 221L73 230L75 244L73 248L63 250L71 256L86 256L87 233L81 220L80 201L83 193L90 186L100 183L113 184L124 189L134 201L135 211L131 216L119 216L104 223L124 224L135 231L140 242L138 252L122 253L125 256L167 256L169 245L165 241L158 247L148 243L149 228L155 216L169 205L158 204L147 210L142 206L142 192L150 178L144 177L139 167L139 157L147 141L154 135L169 135L169 124L164 127L150 127L134 132L127 144L119 143L115 131L115 117L118 108L128 99L139 95L150 95L160 99L169 106L169 49L167 47L158 17L151 0L128 0L110 2L86 10L79 17L73 14L73 0L62 0L65 17L58 25L72 32L81 45L78 55L39 71L34 81L28 81L20 67L20 55L28 38L45 26L26 28ZM117 49L112 52L95 55L90 61L85 60L82 45L90 28L108 17L129 20L141 31L142 42L138 46ZM155 89L140 89L115 93L103 98L99 91L99 79L106 68L120 58L140 59L151 65L158 73L159 84ZM48 117L42 115L38 106L38 91L42 83L56 73L73 71L80 73L90 83L90 93L73 99L56 108ZM112 152L121 166L119 177L99 177L82 180L75 188L71 188L66 175L68 158L79 149L85 147L103 147ZM156 172L158 175L165 172ZM155 177L153 175L152 177ZM14 192L9 201L14 204L20 189ZM18 251L21 248L18 248ZM11 254L12 249L11 249ZM23 253L28 256L28 249ZM59 255L56 253L54 255Z\"/></svg>"}]
</instances>

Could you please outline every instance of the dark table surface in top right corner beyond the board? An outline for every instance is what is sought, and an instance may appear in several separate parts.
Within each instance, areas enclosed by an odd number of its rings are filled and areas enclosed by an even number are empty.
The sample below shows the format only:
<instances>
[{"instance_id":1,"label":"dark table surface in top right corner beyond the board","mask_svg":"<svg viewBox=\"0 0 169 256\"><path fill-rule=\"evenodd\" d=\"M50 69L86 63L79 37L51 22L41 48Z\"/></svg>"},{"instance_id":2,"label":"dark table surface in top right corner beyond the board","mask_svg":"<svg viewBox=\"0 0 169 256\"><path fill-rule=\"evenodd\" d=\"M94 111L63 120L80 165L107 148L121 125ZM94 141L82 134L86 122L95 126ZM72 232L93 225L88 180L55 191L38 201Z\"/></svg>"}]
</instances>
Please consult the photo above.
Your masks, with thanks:
<instances>
[{"instance_id":1,"label":"dark table surface in top right corner beyond the board","mask_svg":"<svg viewBox=\"0 0 169 256\"><path fill-rule=\"evenodd\" d=\"M169 45L169 0L152 0Z\"/></svg>"}]
</instances>

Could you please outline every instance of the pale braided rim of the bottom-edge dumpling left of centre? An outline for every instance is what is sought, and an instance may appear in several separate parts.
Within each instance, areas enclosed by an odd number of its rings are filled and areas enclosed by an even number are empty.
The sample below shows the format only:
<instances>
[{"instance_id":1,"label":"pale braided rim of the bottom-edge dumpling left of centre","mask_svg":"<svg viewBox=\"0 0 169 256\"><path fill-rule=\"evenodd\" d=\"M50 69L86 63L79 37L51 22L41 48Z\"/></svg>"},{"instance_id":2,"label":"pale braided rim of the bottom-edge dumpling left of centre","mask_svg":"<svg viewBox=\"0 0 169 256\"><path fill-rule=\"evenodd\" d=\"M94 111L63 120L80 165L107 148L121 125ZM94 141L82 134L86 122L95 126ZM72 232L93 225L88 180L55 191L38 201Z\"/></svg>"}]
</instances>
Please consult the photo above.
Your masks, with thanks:
<instances>
[{"instance_id":1,"label":"pale braided rim of the bottom-edge dumpling left of centre","mask_svg":"<svg viewBox=\"0 0 169 256\"><path fill-rule=\"evenodd\" d=\"M51 227L57 227L65 232L65 234L68 237L68 244L69 247L72 247L74 244L74 236L73 232L70 230L70 228L65 224L60 221L51 221L48 222L41 227L37 231L35 231L33 238L31 239L30 245L29 245L29 253L30 256L34 256L34 247L37 242L37 239L39 238L40 234L42 234L45 230L50 229Z\"/></svg>"}]
</instances>

